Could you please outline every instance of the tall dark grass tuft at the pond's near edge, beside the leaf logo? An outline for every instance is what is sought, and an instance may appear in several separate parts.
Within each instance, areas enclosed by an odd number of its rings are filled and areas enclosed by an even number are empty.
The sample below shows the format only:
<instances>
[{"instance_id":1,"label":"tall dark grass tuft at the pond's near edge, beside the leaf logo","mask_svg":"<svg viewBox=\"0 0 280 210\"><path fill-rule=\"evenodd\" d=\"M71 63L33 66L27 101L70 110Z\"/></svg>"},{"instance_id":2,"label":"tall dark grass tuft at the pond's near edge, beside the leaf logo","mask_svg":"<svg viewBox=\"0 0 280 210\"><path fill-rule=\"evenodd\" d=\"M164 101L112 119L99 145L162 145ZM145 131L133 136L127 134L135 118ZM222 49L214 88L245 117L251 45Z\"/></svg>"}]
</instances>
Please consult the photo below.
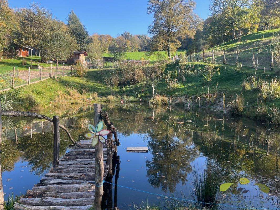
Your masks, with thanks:
<instances>
[{"instance_id":1,"label":"tall dark grass tuft at the pond's near edge, beside the leaf logo","mask_svg":"<svg viewBox=\"0 0 280 210\"><path fill-rule=\"evenodd\" d=\"M216 161L208 160L204 170L193 167L192 184L195 188L195 195L198 202L208 204L197 204L199 208L215 208L218 203L217 195L220 192L220 185L223 183L224 172ZM211 205L212 204L212 205Z\"/></svg>"}]
</instances>

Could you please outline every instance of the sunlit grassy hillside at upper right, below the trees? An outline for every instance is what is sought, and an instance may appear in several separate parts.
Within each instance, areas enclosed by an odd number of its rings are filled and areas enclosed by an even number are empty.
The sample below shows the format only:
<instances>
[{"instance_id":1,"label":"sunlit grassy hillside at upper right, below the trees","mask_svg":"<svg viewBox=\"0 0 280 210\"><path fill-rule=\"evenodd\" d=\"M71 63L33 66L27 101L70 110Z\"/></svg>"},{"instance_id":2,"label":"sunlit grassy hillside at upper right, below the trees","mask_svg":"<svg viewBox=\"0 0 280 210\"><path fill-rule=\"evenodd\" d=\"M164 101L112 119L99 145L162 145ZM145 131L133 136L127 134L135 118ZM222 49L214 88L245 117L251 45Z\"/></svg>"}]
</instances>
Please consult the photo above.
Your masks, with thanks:
<instances>
[{"instance_id":1,"label":"sunlit grassy hillside at upper right, below the trees","mask_svg":"<svg viewBox=\"0 0 280 210\"><path fill-rule=\"evenodd\" d=\"M230 40L228 42L225 42L221 45L215 46L213 48L209 48L208 50L233 50L237 47L239 49L246 49L254 47L254 43L260 43L261 41L269 42L273 36L277 36L277 33L280 33L280 29L272 29L267 31L258 31L255 33L251 33L248 35L244 35L241 37L241 42L238 42L238 39Z\"/></svg>"}]
</instances>

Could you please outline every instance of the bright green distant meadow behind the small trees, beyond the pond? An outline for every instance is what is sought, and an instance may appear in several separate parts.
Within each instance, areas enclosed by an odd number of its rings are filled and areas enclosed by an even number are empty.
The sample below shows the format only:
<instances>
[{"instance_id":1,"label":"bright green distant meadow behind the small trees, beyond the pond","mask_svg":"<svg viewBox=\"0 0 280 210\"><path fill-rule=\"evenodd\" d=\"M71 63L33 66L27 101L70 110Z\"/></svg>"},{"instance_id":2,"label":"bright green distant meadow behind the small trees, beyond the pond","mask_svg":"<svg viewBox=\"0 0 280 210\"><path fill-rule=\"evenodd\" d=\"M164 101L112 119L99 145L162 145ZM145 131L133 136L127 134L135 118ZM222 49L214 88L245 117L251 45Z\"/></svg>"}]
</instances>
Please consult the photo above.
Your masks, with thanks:
<instances>
[{"instance_id":1,"label":"bright green distant meadow behind the small trees, beyond the pond","mask_svg":"<svg viewBox=\"0 0 280 210\"><path fill-rule=\"evenodd\" d=\"M150 61L155 61L157 60L157 53L160 53L161 55L164 55L165 58L167 59L167 52L166 51L156 51L153 53L150 52L127 52L126 53L126 59L130 60L150 60ZM184 50L178 50L177 51L178 55L180 53L185 54ZM176 52L172 52L171 55L176 55ZM110 53L103 53L103 56L105 57L111 57Z\"/></svg>"}]
</instances>

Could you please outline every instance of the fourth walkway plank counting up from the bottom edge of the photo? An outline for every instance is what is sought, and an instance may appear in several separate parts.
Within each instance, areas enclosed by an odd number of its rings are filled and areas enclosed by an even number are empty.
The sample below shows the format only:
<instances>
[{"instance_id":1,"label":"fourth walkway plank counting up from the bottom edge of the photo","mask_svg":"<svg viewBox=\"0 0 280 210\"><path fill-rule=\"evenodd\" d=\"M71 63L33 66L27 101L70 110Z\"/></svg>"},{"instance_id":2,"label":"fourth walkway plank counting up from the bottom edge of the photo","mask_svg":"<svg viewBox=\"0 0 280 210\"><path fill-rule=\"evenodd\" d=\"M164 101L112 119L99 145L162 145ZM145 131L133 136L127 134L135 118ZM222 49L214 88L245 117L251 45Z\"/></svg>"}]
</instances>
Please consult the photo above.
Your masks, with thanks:
<instances>
[{"instance_id":1,"label":"fourth walkway plank counting up from the bottom edge of the photo","mask_svg":"<svg viewBox=\"0 0 280 210\"><path fill-rule=\"evenodd\" d=\"M41 192L87 192L94 190L95 185L92 184L75 184L75 185L42 185L34 186L32 190Z\"/></svg>"}]
</instances>

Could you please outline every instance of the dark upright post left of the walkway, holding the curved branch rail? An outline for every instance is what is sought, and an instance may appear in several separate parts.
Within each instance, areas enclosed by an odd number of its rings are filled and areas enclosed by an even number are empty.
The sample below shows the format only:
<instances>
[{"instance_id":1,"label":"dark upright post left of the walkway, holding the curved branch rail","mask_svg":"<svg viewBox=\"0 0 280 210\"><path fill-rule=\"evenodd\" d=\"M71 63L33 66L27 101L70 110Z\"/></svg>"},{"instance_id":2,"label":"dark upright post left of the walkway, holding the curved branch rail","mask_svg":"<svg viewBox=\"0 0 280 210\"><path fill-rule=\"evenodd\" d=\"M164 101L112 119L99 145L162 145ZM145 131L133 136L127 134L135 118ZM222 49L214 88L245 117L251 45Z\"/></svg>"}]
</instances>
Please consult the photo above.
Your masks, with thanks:
<instances>
[{"instance_id":1,"label":"dark upright post left of the walkway, holding the curved branch rail","mask_svg":"<svg viewBox=\"0 0 280 210\"><path fill-rule=\"evenodd\" d=\"M59 146L60 146L59 117L58 116L53 116L53 130L54 130L53 167L57 167L59 164Z\"/></svg>"}]
</instances>

